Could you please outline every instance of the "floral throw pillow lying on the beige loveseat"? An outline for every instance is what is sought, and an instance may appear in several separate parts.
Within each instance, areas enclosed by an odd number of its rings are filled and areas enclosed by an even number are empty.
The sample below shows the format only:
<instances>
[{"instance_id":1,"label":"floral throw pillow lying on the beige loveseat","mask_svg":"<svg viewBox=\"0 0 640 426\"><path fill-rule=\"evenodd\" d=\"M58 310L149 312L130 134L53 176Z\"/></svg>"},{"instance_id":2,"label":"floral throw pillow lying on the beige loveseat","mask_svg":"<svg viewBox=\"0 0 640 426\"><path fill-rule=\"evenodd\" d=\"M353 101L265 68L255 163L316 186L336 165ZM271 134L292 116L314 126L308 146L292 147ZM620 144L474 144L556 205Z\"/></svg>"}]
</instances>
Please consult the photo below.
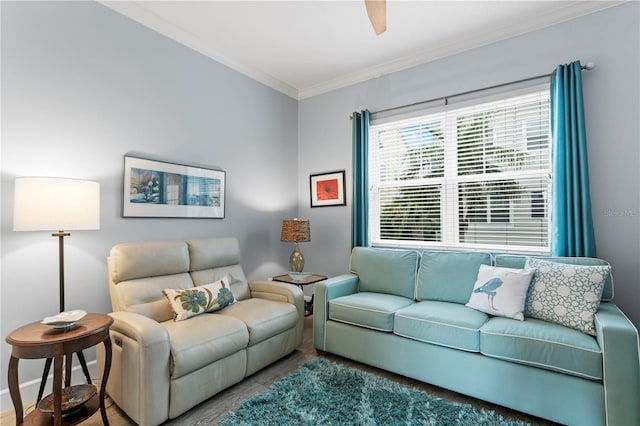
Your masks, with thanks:
<instances>
[{"instance_id":1,"label":"floral throw pillow lying on the beige loveseat","mask_svg":"<svg viewBox=\"0 0 640 426\"><path fill-rule=\"evenodd\" d=\"M182 321L204 312L217 311L236 301L229 289L228 277L211 284L183 290L164 289L163 293L171 303L174 321Z\"/></svg>"}]
</instances>

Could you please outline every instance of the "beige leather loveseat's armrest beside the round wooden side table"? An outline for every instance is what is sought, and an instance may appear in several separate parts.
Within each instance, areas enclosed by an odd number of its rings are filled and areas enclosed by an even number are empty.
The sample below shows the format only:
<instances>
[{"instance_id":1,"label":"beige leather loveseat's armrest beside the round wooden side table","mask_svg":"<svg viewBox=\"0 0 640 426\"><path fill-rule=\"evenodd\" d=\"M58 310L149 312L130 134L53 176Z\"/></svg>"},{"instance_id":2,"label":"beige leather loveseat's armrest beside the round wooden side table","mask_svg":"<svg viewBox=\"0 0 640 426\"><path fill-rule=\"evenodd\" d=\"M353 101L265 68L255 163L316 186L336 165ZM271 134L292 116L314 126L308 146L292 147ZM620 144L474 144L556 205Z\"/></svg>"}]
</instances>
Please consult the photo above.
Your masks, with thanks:
<instances>
[{"instance_id":1,"label":"beige leather loveseat's armrest beside the round wooden side table","mask_svg":"<svg viewBox=\"0 0 640 426\"><path fill-rule=\"evenodd\" d=\"M133 312L112 312L112 361L107 393L139 425L157 425L169 416L171 350L158 322ZM104 349L97 346L99 371Z\"/></svg>"}]
</instances>

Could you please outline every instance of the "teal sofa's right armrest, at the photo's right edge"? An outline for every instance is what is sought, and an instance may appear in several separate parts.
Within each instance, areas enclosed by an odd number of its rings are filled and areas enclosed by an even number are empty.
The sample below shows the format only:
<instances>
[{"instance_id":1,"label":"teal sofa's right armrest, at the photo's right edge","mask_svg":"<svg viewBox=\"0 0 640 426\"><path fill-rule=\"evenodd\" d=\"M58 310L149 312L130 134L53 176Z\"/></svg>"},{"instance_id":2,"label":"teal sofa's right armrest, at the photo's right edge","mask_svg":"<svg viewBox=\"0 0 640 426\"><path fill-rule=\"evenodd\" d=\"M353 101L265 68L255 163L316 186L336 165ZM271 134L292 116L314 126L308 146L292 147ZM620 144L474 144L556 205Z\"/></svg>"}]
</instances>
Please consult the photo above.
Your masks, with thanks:
<instances>
[{"instance_id":1,"label":"teal sofa's right armrest, at the photo's right edge","mask_svg":"<svg viewBox=\"0 0 640 426\"><path fill-rule=\"evenodd\" d=\"M602 349L607 424L640 424L638 330L611 302L600 304L595 326Z\"/></svg>"}]
</instances>

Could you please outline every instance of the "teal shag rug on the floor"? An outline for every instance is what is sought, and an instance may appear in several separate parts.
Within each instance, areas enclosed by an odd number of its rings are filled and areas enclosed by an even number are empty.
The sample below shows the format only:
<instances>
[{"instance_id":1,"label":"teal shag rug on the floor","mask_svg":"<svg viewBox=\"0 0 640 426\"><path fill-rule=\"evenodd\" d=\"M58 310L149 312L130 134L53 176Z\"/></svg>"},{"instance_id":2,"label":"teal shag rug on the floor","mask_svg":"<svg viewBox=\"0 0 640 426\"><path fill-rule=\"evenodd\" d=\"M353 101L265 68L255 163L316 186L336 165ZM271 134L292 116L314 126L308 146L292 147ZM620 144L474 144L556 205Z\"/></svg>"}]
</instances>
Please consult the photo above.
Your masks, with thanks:
<instances>
[{"instance_id":1,"label":"teal shag rug on the floor","mask_svg":"<svg viewBox=\"0 0 640 426\"><path fill-rule=\"evenodd\" d=\"M242 403L221 426L503 425L492 411L449 402L355 368L315 358Z\"/></svg>"}]
</instances>

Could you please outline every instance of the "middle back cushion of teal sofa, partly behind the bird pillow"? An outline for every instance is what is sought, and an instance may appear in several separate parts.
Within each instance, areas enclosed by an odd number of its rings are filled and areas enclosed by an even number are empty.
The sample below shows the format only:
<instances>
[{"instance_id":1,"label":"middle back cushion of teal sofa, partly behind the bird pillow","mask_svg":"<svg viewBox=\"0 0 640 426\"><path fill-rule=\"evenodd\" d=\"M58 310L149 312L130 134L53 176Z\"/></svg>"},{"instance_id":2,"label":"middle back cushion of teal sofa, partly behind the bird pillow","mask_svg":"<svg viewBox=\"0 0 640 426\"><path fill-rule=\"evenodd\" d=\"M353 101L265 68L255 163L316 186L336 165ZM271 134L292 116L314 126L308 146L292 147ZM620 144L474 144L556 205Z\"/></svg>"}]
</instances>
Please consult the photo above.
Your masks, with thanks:
<instances>
[{"instance_id":1,"label":"middle back cushion of teal sofa, partly behind the bird pillow","mask_svg":"<svg viewBox=\"0 0 640 426\"><path fill-rule=\"evenodd\" d=\"M491 265L482 252L425 251L417 278L418 300L465 304L473 291L480 265Z\"/></svg>"}]
</instances>

